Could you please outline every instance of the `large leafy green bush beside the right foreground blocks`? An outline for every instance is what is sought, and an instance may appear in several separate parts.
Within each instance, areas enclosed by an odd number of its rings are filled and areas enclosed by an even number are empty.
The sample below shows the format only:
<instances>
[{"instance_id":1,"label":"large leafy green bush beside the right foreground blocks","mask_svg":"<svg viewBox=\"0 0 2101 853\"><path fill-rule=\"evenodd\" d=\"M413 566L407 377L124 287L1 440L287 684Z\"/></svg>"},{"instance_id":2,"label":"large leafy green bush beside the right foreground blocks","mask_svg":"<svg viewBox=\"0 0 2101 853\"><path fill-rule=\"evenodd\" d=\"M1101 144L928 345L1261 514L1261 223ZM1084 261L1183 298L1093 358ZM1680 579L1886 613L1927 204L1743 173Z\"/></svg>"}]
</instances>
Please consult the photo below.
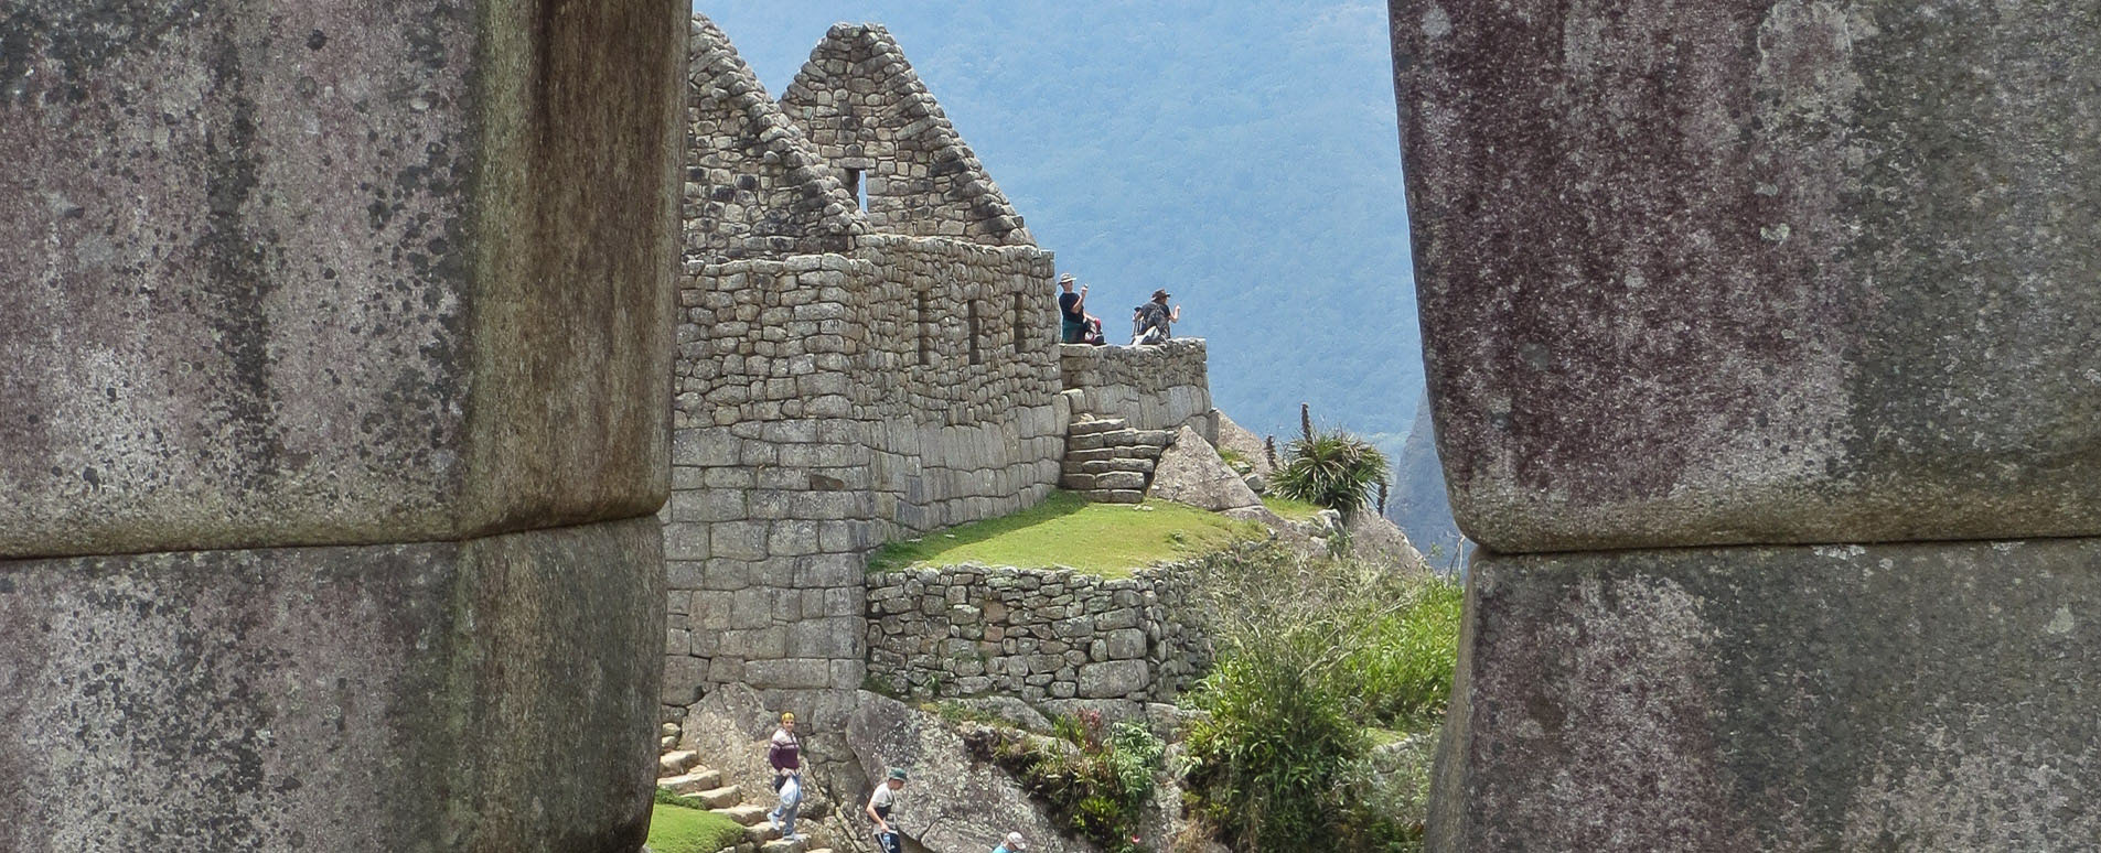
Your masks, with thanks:
<instances>
[{"instance_id":1,"label":"large leafy green bush beside the right foreground blocks","mask_svg":"<svg viewBox=\"0 0 2101 853\"><path fill-rule=\"evenodd\" d=\"M1206 588L1231 607L1189 695L1208 712L1187 742L1198 817L1242 851L1416 849L1427 775L1380 740L1435 742L1458 586L1267 548L1214 561Z\"/></svg>"}]
</instances>

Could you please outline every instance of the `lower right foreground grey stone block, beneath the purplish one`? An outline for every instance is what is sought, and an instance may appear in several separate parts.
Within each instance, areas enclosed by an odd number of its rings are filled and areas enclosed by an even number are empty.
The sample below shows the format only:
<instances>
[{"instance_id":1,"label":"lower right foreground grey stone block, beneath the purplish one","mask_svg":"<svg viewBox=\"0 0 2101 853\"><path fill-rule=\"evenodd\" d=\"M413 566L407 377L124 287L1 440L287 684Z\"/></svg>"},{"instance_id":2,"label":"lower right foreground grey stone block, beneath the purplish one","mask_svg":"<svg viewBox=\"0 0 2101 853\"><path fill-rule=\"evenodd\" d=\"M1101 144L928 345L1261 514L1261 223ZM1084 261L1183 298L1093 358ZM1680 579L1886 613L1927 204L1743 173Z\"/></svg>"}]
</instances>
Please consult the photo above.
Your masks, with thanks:
<instances>
[{"instance_id":1,"label":"lower right foreground grey stone block, beneath the purplish one","mask_svg":"<svg viewBox=\"0 0 2101 853\"><path fill-rule=\"evenodd\" d=\"M1475 559L1431 849L2101 838L2101 540Z\"/></svg>"}]
</instances>

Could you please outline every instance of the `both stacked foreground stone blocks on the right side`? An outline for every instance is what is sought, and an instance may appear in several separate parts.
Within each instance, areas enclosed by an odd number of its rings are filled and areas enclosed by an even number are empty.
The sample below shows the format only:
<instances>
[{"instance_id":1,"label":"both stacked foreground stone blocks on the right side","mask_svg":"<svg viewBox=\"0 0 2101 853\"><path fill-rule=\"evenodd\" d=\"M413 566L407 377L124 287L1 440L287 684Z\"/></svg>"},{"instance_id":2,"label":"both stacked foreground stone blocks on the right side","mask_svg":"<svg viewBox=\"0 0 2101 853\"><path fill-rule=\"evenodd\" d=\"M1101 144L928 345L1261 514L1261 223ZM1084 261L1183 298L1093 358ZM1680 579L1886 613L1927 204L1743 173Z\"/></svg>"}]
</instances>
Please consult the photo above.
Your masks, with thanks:
<instances>
[{"instance_id":1,"label":"both stacked foreground stone blocks on the right side","mask_svg":"<svg viewBox=\"0 0 2101 853\"><path fill-rule=\"evenodd\" d=\"M1431 849L2093 847L2101 8L1391 23L1481 544Z\"/></svg>"}]
</instances>

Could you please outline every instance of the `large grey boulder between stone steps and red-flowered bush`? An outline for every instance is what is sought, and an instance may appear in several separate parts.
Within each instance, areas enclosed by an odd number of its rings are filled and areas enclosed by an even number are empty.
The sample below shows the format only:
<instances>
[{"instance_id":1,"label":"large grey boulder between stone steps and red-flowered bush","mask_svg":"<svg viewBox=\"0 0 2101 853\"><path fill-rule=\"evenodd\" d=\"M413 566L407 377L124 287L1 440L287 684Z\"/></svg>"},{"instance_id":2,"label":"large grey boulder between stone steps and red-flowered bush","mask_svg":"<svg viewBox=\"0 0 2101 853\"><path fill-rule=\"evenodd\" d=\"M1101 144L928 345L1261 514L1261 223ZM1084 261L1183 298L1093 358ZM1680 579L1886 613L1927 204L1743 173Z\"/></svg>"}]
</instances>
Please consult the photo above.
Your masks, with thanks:
<instances>
[{"instance_id":1,"label":"large grey boulder between stone steps and red-flowered bush","mask_svg":"<svg viewBox=\"0 0 2101 853\"><path fill-rule=\"evenodd\" d=\"M857 792L861 798L891 767L912 771L899 798L897 830L933 853L985 853L1008 832L1027 836L1029 851L1090 851L1090 845L1061 836L1006 771L973 761L962 735L939 716L861 691L847 723L847 744L870 773Z\"/></svg>"}]
</instances>

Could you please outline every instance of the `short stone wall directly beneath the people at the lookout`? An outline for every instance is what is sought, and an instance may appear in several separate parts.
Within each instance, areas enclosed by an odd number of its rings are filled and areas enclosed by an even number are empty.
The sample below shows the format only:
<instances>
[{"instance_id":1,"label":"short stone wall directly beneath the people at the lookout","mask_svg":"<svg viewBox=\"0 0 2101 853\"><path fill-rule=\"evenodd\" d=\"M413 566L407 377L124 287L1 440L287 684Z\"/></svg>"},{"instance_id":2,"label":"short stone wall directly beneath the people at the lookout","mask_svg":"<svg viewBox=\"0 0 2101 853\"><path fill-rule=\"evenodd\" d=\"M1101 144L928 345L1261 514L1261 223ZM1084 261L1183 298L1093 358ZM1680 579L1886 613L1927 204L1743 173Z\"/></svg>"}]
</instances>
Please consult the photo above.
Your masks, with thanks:
<instances>
[{"instance_id":1,"label":"short stone wall directly beneath the people at the lookout","mask_svg":"<svg viewBox=\"0 0 2101 853\"><path fill-rule=\"evenodd\" d=\"M1187 424L1219 443L1202 338L1160 347L1059 345L1065 410L1072 418L1124 418L1132 429L1174 431Z\"/></svg>"}]
</instances>

